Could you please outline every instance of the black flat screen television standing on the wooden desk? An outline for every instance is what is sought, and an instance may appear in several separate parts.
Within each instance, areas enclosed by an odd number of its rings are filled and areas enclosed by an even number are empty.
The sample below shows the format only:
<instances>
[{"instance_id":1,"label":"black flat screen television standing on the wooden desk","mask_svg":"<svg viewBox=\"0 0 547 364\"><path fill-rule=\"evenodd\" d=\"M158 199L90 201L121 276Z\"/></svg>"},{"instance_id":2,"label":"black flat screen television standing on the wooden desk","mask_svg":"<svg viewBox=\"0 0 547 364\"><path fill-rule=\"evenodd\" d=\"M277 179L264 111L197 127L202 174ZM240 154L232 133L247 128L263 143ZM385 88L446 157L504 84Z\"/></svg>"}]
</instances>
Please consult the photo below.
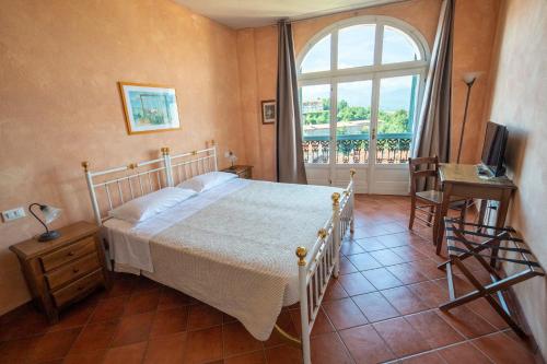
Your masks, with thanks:
<instances>
[{"instance_id":1,"label":"black flat screen television standing on the wooden desk","mask_svg":"<svg viewBox=\"0 0 547 364\"><path fill-rule=\"evenodd\" d=\"M504 126L488 121L480 162L482 162L482 166L494 177L505 174L503 156L505 154L508 134L508 129Z\"/></svg>"}]
</instances>

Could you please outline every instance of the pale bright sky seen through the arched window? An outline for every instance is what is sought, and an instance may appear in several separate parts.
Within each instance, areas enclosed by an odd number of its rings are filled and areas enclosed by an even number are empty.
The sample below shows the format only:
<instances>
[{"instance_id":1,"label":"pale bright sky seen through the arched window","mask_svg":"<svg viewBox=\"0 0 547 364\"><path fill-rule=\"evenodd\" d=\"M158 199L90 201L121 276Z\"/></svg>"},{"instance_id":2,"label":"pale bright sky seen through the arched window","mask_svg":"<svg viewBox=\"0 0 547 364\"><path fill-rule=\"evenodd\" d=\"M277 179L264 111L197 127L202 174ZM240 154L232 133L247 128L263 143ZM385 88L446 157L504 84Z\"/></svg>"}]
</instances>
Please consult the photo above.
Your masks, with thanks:
<instances>
[{"instance_id":1,"label":"pale bright sky seen through the arched window","mask_svg":"<svg viewBox=\"0 0 547 364\"><path fill-rule=\"evenodd\" d=\"M341 28L338 33L338 68L371 66L374 59L375 25L360 24ZM382 62L410 61L419 57L414 42L403 32L384 26ZM326 71L330 68L330 34L317 42L302 62L302 72ZM412 77L383 79L380 86L380 108L384 110L408 109ZM329 97L329 85L305 86L303 101ZM371 81L338 84L338 101L350 106L370 106Z\"/></svg>"}]
</instances>

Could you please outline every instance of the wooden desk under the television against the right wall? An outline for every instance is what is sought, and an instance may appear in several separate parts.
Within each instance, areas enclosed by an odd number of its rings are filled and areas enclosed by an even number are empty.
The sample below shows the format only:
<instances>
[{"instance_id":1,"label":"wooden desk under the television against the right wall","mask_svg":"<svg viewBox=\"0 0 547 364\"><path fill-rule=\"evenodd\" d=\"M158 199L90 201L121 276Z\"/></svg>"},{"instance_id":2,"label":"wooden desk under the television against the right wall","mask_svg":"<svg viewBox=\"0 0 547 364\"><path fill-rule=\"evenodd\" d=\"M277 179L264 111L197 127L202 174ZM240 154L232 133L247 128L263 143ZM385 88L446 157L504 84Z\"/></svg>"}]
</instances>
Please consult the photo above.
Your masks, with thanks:
<instances>
[{"instance_id":1,"label":"wooden desk under the television against the right wall","mask_svg":"<svg viewBox=\"0 0 547 364\"><path fill-rule=\"evenodd\" d=\"M496 178L480 178L474 164L445 163L439 166L439 177L443 188L441 219L439 228L433 236L437 244L437 254L441 253L444 237L444 216L449 212L450 197L457 196L466 199L482 199L499 201L496 226L503 227L508 214L509 202L516 186L505 176ZM493 251L492 254L497 254ZM493 260L490 261L493 263Z\"/></svg>"}]
</instances>

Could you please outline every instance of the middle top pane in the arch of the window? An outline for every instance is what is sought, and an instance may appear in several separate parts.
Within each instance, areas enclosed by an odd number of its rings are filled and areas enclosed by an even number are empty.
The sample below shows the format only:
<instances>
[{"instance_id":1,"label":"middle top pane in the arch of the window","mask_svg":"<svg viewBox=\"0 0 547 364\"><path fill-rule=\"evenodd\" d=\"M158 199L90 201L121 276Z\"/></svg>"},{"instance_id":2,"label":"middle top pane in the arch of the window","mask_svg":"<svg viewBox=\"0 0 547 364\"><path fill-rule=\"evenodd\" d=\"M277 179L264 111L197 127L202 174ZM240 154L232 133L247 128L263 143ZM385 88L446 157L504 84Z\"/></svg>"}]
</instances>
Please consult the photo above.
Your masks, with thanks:
<instances>
[{"instance_id":1,"label":"middle top pane in the arch of the window","mask_svg":"<svg viewBox=\"0 0 547 364\"><path fill-rule=\"evenodd\" d=\"M374 63L373 24L361 24L338 31L338 68L371 66Z\"/></svg>"}]
</instances>

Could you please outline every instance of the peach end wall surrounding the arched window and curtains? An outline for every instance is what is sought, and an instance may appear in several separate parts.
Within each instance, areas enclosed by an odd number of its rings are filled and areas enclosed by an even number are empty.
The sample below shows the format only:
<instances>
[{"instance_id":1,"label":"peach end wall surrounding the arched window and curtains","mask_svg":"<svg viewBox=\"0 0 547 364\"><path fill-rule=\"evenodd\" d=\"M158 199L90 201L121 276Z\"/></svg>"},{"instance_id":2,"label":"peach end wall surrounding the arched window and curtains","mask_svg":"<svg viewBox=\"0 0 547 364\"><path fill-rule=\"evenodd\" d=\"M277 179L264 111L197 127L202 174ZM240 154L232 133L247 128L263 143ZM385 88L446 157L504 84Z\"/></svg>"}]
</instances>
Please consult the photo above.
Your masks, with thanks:
<instances>
[{"instance_id":1,"label":"peach end wall surrounding the arched window and curtains","mask_svg":"<svg viewBox=\"0 0 547 364\"><path fill-rule=\"evenodd\" d=\"M411 0L389 5L381 5L359 11L350 11L335 15L321 16L293 23L295 54L302 50L306 43L328 25L352 16L386 15L397 17L416 27L432 48L437 25L439 22L440 0ZM474 163L477 158L477 145L481 144L481 128L485 125L484 107L485 92L488 89L488 72L491 62L497 17L498 0L457 0L454 39L454 72L453 72L453 131L452 150L455 158L459 127L462 125L466 86L462 81L464 72L480 70L485 74L474 86L473 99L469 106L468 124L462 161ZM260 122L259 105L261 99L276 97L277 77L277 26L242 30L237 37L245 42L238 43L240 63L255 61L252 80L241 79L242 89L255 90L254 94L242 94L245 105L243 122L246 128L253 128L252 143L247 144L249 153L263 153L263 165L259 167L259 178L275 179L275 129L271 126L255 126ZM249 50L253 48L253 51ZM251 68L246 68L251 69ZM248 98L247 98L248 97ZM245 108L248 109L245 109ZM253 110L253 113L248 110ZM253 151L253 152L252 152Z\"/></svg>"}]
</instances>

